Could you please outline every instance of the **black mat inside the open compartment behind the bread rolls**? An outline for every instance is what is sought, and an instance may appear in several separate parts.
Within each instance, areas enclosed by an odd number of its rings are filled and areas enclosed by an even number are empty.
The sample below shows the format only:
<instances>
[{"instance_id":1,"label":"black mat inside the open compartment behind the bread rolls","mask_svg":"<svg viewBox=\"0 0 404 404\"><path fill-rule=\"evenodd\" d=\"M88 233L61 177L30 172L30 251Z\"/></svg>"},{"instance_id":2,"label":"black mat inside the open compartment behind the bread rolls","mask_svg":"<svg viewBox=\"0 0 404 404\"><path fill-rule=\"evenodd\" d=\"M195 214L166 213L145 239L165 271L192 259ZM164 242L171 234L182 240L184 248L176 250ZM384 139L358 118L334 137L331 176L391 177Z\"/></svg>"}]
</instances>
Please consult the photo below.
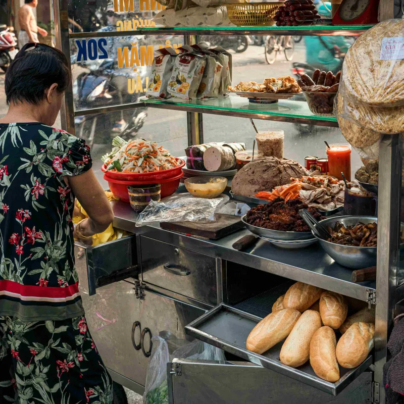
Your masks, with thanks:
<instances>
[{"instance_id":1,"label":"black mat inside the open compartment behind the bread rolls","mask_svg":"<svg viewBox=\"0 0 404 404\"><path fill-rule=\"evenodd\" d=\"M255 316L264 318L271 313L272 306L275 303L276 299L282 294L285 294L289 287L293 285L293 283L296 282L288 280L278 286L267 290L266 292L260 293L257 296L250 297L247 300L241 301L234 307L243 312L254 314Z\"/></svg>"}]
</instances>

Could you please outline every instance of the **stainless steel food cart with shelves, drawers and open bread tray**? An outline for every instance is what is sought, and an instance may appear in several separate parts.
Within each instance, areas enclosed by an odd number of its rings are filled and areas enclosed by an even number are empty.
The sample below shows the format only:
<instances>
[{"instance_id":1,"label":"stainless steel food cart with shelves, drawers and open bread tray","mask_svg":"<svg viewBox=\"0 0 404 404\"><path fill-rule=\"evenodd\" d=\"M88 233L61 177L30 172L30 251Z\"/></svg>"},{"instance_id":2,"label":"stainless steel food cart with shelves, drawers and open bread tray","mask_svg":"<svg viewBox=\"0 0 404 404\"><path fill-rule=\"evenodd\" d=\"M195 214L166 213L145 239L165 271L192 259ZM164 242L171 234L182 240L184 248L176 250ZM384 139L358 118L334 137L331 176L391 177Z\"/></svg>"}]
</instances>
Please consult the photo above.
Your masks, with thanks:
<instances>
[{"instance_id":1,"label":"stainless steel food cart with shelves, drawers and open bread tray","mask_svg":"<svg viewBox=\"0 0 404 404\"><path fill-rule=\"evenodd\" d=\"M392 10L391 0L381 1L382 19L392 17ZM55 23L58 46L68 59L71 38L175 34L184 35L186 43L195 43L197 35L202 34L349 35L368 28L144 28L124 33L69 34L67 0L56 2ZM63 129L75 132L75 116L144 106L186 112L189 144L204 140L203 113L337 127L335 118L317 117L296 106L288 113L277 113L245 108L228 99L205 104L144 100L75 111L70 89L63 106ZM96 247L76 244L87 320L113 379L142 393L151 335L164 337L170 352L196 338L224 349L227 362L174 359L167 369L172 403L385 402L382 368L404 285L398 249L401 150L399 136L383 137L379 157L383 170L379 174L376 282L352 283L351 271L336 264L318 245L285 254L261 240L254 248L239 252L232 248L232 243L247 234L247 230L212 241L156 226L138 228L130 206L114 202L114 226L134 235ZM374 353L357 369L342 374L337 383L321 380L310 366L292 369L282 365L276 347L265 356L245 348L249 331L268 313L271 299L283 294L292 281L376 305Z\"/></svg>"}]
</instances>

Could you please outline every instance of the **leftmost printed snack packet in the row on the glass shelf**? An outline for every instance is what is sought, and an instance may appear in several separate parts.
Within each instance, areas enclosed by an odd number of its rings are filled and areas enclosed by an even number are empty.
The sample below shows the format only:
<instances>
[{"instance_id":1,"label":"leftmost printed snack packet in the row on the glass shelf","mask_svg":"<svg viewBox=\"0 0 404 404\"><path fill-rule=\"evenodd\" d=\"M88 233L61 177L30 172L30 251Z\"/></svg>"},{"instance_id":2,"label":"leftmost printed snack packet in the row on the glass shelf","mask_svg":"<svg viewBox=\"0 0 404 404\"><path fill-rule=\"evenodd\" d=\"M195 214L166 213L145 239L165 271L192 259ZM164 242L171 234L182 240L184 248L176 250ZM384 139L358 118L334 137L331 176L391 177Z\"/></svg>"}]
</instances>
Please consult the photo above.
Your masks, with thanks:
<instances>
[{"instance_id":1,"label":"leftmost printed snack packet in the row on the glass shelf","mask_svg":"<svg viewBox=\"0 0 404 404\"><path fill-rule=\"evenodd\" d=\"M163 48L155 52L151 66L150 83L147 87L147 98L170 98L167 86L173 72L177 54L173 48Z\"/></svg>"}]
</instances>

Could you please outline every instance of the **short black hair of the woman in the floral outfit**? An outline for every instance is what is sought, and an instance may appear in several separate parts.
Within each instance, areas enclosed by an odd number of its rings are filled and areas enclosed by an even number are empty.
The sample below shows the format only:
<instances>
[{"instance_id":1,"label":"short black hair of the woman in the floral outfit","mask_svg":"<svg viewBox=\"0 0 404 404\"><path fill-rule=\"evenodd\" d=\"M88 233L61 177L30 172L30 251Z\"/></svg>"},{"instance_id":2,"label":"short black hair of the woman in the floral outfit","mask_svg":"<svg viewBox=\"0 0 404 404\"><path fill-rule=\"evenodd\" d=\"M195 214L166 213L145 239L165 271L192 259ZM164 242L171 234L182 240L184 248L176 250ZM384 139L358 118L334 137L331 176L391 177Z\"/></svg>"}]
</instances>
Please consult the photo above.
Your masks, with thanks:
<instances>
[{"instance_id":1,"label":"short black hair of the woman in the floral outfit","mask_svg":"<svg viewBox=\"0 0 404 404\"><path fill-rule=\"evenodd\" d=\"M7 69L7 104L27 102L39 105L45 90L53 83L57 83L58 91L63 92L70 80L67 59L59 49L43 43L27 43Z\"/></svg>"}]
</instances>

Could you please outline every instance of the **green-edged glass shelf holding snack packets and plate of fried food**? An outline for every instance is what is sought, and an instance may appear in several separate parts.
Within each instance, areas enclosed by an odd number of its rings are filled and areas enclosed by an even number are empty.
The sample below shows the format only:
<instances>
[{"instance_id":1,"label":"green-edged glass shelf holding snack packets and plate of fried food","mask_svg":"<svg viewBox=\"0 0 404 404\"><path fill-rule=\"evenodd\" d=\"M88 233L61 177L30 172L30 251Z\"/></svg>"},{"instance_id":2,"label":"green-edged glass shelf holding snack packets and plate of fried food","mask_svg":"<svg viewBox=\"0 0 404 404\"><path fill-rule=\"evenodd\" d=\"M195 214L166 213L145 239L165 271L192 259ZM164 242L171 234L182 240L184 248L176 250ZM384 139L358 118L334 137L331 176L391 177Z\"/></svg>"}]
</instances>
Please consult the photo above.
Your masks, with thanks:
<instances>
[{"instance_id":1,"label":"green-edged glass shelf holding snack packets and plate of fried food","mask_svg":"<svg viewBox=\"0 0 404 404\"><path fill-rule=\"evenodd\" d=\"M298 97L300 96L298 95ZM314 115L310 112L306 101L293 98L279 100L276 104L252 104L248 98L234 95L191 101L180 98L148 99L142 97L141 101L150 108L338 127L335 117Z\"/></svg>"}]
</instances>

